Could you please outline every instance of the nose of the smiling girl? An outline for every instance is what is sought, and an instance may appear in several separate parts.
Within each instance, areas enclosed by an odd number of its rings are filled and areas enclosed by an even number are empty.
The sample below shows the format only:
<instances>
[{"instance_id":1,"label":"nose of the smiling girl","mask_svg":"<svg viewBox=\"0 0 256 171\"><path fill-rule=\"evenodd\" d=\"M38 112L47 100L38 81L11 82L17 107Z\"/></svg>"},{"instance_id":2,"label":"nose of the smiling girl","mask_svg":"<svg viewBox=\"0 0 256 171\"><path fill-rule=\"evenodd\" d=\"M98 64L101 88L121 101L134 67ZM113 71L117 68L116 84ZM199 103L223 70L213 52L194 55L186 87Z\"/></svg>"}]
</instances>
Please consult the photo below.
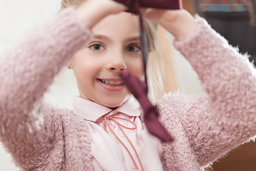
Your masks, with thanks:
<instances>
[{"instance_id":1,"label":"nose of the smiling girl","mask_svg":"<svg viewBox=\"0 0 256 171\"><path fill-rule=\"evenodd\" d=\"M123 58L123 54L122 53L115 53L115 54L111 54L109 56L109 61L106 64L106 68L109 71L114 71L114 72L120 72L120 71L125 71L127 69L125 60Z\"/></svg>"}]
</instances>

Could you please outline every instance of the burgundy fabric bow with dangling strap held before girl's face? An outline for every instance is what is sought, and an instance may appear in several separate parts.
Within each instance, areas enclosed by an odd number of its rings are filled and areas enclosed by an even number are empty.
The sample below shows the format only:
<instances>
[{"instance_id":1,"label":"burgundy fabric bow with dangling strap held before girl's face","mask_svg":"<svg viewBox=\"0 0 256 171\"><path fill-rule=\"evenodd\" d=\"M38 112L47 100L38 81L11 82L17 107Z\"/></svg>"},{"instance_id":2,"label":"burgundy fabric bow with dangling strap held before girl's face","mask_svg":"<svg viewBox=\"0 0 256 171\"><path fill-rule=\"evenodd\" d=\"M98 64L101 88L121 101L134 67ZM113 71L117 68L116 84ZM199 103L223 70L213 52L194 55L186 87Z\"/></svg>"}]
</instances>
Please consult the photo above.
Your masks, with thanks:
<instances>
[{"instance_id":1,"label":"burgundy fabric bow with dangling strap held before girl's face","mask_svg":"<svg viewBox=\"0 0 256 171\"><path fill-rule=\"evenodd\" d=\"M140 7L162 8L162 9L181 9L181 0L114 0L128 6L127 12L140 14ZM124 81L125 86L130 90L134 97L139 101L144 111L144 122L149 133L160 138L163 142L173 141L173 138L164 129L158 121L158 112L147 98L147 77L146 77L146 61L147 61L147 40L140 16L141 37L142 37L142 57L144 62L145 82L140 81L131 72L124 71L120 77Z\"/></svg>"}]
</instances>

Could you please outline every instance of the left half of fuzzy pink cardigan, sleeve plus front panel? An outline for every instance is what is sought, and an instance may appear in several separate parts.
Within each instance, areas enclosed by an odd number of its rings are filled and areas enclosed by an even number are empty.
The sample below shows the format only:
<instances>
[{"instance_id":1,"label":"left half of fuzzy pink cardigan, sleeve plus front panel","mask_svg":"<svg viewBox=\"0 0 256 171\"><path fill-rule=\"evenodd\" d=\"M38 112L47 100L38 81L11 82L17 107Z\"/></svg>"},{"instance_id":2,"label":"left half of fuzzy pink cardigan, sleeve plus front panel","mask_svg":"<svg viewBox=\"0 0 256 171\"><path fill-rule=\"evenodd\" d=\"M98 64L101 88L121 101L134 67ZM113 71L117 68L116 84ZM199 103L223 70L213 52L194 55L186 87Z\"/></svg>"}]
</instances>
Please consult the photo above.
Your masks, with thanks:
<instances>
[{"instance_id":1,"label":"left half of fuzzy pink cardigan, sleeve plus front panel","mask_svg":"<svg viewBox=\"0 0 256 171\"><path fill-rule=\"evenodd\" d=\"M24 170L93 170L91 136L72 111L41 97L91 31L63 10L5 53L0 72L0 140Z\"/></svg>"}]
</instances>

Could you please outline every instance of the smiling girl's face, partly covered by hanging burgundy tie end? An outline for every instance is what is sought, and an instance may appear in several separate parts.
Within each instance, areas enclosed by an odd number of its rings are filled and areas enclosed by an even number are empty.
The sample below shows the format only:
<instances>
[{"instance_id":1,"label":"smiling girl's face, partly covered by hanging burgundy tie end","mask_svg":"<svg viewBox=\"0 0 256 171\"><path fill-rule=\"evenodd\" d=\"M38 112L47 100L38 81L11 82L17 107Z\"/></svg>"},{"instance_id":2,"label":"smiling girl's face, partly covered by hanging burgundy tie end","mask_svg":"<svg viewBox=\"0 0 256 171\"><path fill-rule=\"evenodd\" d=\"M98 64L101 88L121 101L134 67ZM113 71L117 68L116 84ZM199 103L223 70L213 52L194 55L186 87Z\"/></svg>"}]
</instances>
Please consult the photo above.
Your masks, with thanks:
<instances>
[{"instance_id":1,"label":"smiling girl's face, partly covered by hanging burgundy tie end","mask_svg":"<svg viewBox=\"0 0 256 171\"><path fill-rule=\"evenodd\" d=\"M71 68L81 98L115 108L131 95L119 73L143 76L139 20L122 12L107 16L92 31L93 38L74 54Z\"/></svg>"}]
</instances>

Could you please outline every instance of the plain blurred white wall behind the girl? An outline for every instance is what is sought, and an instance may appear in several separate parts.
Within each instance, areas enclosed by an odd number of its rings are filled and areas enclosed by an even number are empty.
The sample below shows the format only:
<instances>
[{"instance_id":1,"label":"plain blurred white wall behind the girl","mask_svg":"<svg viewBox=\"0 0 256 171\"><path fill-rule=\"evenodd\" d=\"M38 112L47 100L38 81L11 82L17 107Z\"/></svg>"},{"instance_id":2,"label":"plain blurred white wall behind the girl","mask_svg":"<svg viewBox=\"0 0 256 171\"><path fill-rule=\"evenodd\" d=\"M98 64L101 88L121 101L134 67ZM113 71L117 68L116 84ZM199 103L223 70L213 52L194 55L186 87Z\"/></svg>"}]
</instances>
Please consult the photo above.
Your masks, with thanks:
<instances>
[{"instance_id":1,"label":"plain blurred white wall behind the girl","mask_svg":"<svg viewBox=\"0 0 256 171\"><path fill-rule=\"evenodd\" d=\"M0 0L0 56L31 28L55 16L60 9L60 2L61 0ZM180 91L184 94L202 93L197 75L189 63L179 52L173 50L173 53ZM45 99L58 104L60 108L72 109L74 95L78 95L78 90L73 72L64 68L45 94ZM0 145L0 171L18 170L10 161L10 156Z\"/></svg>"}]
</instances>

